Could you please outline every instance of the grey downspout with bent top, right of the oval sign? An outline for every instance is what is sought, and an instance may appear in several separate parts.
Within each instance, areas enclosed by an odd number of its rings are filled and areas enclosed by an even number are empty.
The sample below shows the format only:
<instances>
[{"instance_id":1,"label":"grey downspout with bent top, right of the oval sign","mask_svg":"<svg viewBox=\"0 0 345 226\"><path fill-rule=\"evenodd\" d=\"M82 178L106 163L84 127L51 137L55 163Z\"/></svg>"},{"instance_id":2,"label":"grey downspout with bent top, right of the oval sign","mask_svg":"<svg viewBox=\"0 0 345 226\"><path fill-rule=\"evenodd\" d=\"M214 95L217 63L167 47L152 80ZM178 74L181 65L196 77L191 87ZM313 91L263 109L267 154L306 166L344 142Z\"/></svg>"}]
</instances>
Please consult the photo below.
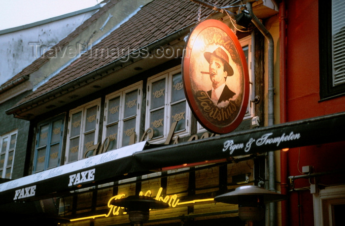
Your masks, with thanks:
<instances>
[{"instance_id":1,"label":"grey downspout with bent top, right of the oval sign","mask_svg":"<svg viewBox=\"0 0 345 226\"><path fill-rule=\"evenodd\" d=\"M246 3L247 10L252 18L253 24L265 36L268 41L268 126L274 125L274 41L271 33L265 28L260 20L254 15L252 2ZM275 154L273 151L268 153L268 190L276 192L276 168ZM276 226L276 203L269 203L269 226Z\"/></svg>"}]
</instances>

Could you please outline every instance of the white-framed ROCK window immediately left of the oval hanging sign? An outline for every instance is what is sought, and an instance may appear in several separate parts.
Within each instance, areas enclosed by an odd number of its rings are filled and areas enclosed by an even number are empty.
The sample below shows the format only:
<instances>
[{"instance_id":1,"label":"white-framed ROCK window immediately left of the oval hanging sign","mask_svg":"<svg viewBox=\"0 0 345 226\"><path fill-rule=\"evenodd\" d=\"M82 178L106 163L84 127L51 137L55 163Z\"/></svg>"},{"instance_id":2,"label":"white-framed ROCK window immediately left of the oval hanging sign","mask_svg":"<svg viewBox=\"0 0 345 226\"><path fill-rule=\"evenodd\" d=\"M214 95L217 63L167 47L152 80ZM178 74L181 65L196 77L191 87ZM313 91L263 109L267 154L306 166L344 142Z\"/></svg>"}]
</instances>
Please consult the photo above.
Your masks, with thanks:
<instances>
[{"instance_id":1,"label":"white-framed ROCK window immediately left of the oval hanging sign","mask_svg":"<svg viewBox=\"0 0 345 226\"><path fill-rule=\"evenodd\" d=\"M154 142L167 138L174 122L175 135L189 134L190 109L179 66L148 79L146 117L145 128L153 129Z\"/></svg>"}]
</instances>

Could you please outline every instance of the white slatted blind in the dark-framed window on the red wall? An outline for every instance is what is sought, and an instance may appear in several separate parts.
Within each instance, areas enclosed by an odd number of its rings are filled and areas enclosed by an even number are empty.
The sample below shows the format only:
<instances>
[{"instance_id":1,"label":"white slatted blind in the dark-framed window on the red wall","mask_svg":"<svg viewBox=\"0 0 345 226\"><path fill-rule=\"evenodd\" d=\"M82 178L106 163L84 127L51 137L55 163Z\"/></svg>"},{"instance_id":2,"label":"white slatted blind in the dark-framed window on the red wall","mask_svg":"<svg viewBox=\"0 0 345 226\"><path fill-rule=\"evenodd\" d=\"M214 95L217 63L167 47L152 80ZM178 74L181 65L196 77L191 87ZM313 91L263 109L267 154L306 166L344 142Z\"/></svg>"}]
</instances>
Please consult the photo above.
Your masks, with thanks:
<instances>
[{"instance_id":1,"label":"white slatted blind in the dark-framed window on the red wall","mask_svg":"<svg viewBox=\"0 0 345 226\"><path fill-rule=\"evenodd\" d=\"M332 0L333 85L345 83L345 1Z\"/></svg>"}]
</instances>

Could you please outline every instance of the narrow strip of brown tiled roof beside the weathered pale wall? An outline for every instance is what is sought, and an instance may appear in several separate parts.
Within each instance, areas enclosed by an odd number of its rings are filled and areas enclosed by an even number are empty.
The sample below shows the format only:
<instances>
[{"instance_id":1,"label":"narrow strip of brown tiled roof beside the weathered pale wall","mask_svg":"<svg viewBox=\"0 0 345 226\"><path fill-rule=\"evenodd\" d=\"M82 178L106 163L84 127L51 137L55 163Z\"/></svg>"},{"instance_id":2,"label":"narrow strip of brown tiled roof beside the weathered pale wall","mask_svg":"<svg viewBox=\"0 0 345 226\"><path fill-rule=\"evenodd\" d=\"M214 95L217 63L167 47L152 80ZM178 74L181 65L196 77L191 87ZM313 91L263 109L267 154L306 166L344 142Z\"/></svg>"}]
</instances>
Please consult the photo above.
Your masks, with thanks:
<instances>
[{"instance_id":1,"label":"narrow strip of brown tiled roof beside the weathered pale wall","mask_svg":"<svg viewBox=\"0 0 345 226\"><path fill-rule=\"evenodd\" d=\"M25 67L22 71L18 74L13 76L11 79L7 80L5 83L1 85L1 87L5 87L6 85L12 83L13 81L20 79L23 76L30 75L31 73L38 70L38 68L44 65L51 57L55 55L55 50L63 49L64 46L68 45L71 40L73 40L78 34L83 32L87 29L95 20L100 18L109 8L113 7L119 0L110 0L107 2L102 8L100 8L96 13L94 13L90 18L88 18L83 24L77 27L73 32L71 32L68 36L62 39L59 43L57 43L54 48L48 50L44 55L37 58L31 65Z\"/></svg>"}]
</instances>

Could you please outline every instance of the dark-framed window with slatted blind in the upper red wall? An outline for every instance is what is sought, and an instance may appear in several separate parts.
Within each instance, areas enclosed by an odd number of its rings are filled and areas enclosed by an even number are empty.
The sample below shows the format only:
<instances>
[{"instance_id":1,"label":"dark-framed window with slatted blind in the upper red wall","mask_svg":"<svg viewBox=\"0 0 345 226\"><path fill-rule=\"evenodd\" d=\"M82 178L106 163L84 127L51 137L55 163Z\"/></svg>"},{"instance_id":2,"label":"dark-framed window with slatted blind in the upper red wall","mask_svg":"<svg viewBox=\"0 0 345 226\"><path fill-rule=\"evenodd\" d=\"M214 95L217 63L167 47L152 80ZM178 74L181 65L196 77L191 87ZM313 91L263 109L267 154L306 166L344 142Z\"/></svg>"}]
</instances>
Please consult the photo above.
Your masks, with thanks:
<instances>
[{"instance_id":1,"label":"dark-framed window with slatted blind in the upper red wall","mask_svg":"<svg viewBox=\"0 0 345 226\"><path fill-rule=\"evenodd\" d=\"M345 1L319 1L320 98L345 94Z\"/></svg>"}]
</instances>

